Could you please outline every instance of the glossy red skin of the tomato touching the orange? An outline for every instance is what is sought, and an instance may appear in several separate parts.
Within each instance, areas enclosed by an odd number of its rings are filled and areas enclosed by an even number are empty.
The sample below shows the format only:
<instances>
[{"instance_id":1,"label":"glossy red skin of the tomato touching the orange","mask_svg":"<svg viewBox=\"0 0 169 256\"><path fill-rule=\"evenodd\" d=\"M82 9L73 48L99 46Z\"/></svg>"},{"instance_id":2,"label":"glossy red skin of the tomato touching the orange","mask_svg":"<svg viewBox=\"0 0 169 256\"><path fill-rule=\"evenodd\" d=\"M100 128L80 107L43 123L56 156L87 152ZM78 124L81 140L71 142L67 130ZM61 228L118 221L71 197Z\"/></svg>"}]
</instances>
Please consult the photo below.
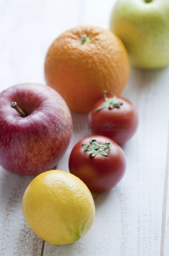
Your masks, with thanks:
<instances>
[{"instance_id":1,"label":"glossy red skin of the tomato touching the orange","mask_svg":"<svg viewBox=\"0 0 169 256\"><path fill-rule=\"evenodd\" d=\"M112 96L108 96L107 98L110 97ZM117 144L122 145L135 133L138 126L138 114L135 106L129 100L122 97L117 97L117 100L123 104L112 109L104 108L90 112L88 114L88 123L93 125L93 134L107 136ZM102 97L94 103L91 111L104 103L105 99ZM102 125L102 129L100 129L101 126L98 126L98 124ZM111 127L111 130L108 129L106 131L106 124Z\"/></svg>"}]
</instances>

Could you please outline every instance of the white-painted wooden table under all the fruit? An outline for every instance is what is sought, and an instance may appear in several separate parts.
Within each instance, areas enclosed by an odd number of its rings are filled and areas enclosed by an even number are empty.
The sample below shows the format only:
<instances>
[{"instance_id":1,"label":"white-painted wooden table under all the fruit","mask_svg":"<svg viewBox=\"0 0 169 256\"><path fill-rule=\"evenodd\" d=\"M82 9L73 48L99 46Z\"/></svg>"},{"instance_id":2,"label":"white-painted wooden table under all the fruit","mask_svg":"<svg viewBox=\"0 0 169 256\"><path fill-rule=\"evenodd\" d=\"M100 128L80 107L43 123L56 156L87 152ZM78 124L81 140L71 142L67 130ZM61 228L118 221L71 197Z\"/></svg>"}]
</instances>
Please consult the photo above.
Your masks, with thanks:
<instances>
[{"instance_id":1,"label":"white-painted wooden table under all the fruit","mask_svg":"<svg viewBox=\"0 0 169 256\"><path fill-rule=\"evenodd\" d=\"M93 24L109 27L114 0L1 0L0 90L17 83L45 83L44 59L64 30ZM127 170L113 189L94 194L96 218L78 242L53 246L38 238L24 221L21 200L33 177L0 167L0 256L168 256L169 255L169 68L132 69L123 96L139 113L135 136L123 149ZM72 113L74 122L86 115ZM68 170L73 145L85 132L74 132L58 169Z\"/></svg>"}]
</instances>

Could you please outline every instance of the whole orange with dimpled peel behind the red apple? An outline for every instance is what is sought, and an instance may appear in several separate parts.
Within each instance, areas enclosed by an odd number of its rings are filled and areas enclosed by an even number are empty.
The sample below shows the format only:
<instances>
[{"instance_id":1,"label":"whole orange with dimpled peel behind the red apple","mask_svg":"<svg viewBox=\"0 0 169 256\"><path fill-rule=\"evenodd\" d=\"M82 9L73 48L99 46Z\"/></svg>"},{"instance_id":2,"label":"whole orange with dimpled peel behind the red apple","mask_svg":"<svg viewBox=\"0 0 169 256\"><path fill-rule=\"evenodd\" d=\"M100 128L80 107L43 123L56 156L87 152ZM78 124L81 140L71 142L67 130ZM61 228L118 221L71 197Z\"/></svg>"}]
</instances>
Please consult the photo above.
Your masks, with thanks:
<instances>
[{"instance_id":1,"label":"whole orange with dimpled peel behind the red apple","mask_svg":"<svg viewBox=\"0 0 169 256\"><path fill-rule=\"evenodd\" d=\"M45 79L71 110L89 112L103 91L120 95L130 73L122 41L111 31L78 26L61 34L45 59Z\"/></svg>"}]
</instances>

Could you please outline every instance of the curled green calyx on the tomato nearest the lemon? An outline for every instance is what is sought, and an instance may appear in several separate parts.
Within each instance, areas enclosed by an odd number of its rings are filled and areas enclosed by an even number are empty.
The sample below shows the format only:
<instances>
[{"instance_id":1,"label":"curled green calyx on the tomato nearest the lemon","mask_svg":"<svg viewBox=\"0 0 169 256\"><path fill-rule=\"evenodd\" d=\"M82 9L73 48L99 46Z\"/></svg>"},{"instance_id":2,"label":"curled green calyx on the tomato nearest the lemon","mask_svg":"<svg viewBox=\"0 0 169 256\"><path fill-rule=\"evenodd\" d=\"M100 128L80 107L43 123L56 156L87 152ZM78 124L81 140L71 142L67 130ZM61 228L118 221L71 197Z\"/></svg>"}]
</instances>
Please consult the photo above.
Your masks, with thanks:
<instances>
[{"instance_id":1,"label":"curled green calyx on the tomato nearest the lemon","mask_svg":"<svg viewBox=\"0 0 169 256\"><path fill-rule=\"evenodd\" d=\"M83 143L82 148L84 148L84 152L89 151L89 156L94 157L95 155L101 155L105 158L110 153L110 147L112 146L111 142L106 142L104 144L98 144L98 142L94 139L91 139L89 143ZM108 151L106 151L108 150Z\"/></svg>"}]
</instances>

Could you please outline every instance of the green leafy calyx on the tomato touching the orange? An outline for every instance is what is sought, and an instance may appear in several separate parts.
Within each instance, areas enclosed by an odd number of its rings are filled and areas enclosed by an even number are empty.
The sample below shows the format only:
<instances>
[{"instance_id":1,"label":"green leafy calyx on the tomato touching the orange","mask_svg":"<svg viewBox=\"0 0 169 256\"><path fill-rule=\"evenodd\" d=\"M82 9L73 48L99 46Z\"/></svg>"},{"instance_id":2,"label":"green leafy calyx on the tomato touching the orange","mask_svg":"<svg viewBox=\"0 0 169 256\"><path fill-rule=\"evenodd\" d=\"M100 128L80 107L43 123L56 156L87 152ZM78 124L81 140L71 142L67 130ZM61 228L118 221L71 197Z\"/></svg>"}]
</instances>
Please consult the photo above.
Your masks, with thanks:
<instances>
[{"instance_id":1,"label":"green leafy calyx on the tomato touching the orange","mask_svg":"<svg viewBox=\"0 0 169 256\"><path fill-rule=\"evenodd\" d=\"M106 95L112 95L111 93L107 92L106 90L104 91L104 99L105 99L105 103L101 106L98 106L98 108L92 110L91 112L95 112L97 110L100 109L104 109L104 108L108 108L108 109L112 109L115 107L119 107L120 105L122 105L123 103L117 100L116 95L113 95L112 98L107 98Z\"/></svg>"}]
</instances>

